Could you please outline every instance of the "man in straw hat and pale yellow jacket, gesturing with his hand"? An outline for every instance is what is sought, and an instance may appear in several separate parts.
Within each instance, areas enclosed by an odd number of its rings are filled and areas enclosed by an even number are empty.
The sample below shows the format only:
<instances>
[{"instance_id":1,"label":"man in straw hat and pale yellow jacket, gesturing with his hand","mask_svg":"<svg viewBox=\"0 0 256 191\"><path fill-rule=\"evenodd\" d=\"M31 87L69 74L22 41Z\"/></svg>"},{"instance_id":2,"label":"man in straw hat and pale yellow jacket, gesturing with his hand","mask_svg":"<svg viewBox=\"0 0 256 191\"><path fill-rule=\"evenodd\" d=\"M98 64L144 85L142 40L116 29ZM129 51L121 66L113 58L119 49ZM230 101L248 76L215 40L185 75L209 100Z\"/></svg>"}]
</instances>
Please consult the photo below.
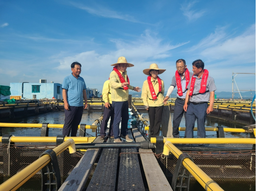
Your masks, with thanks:
<instances>
[{"instance_id":1,"label":"man in straw hat and pale yellow jacket, gesturing with his hand","mask_svg":"<svg viewBox=\"0 0 256 191\"><path fill-rule=\"evenodd\" d=\"M133 64L127 63L127 60L121 56L118 58L117 63L112 64L114 66L113 71L110 73L109 84L112 88L111 99L112 106L114 108L114 142L122 142L122 140L132 142L133 140L128 137L128 119L129 119L129 105L128 96L129 90L140 92L141 88L133 87L130 85L129 78L127 76L127 67L133 67ZM122 118L122 121L121 121ZM121 137L119 124L121 124Z\"/></svg>"}]
</instances>

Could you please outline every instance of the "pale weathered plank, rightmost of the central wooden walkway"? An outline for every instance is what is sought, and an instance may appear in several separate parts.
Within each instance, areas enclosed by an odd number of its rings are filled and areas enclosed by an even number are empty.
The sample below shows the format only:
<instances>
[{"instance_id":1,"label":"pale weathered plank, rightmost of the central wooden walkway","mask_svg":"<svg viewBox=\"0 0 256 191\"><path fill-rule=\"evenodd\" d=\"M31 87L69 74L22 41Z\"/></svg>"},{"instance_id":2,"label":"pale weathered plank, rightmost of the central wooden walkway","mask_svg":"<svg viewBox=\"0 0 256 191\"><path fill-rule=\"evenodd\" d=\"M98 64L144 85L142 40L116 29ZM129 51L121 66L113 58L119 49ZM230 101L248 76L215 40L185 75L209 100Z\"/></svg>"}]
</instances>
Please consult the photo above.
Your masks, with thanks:
<instances>
[{"instance_id":1,"label":"pale weathered plank, rightmost of the central wooden walkway","mask_svg":"<svg viewBox=\"0 0 256 191\"><path fill-rule=\"evenodd\" d=\"M137 127L133 127L132 131L136 142L145 141L145 138L138 131ZM167 181L162 169L160 168L154 153L151 150L147 149L139 149L139 152L149 190L172 191L172 187ZM152 152L152 154L148 154L149 152Z\"/></svg>"}]
</instances>

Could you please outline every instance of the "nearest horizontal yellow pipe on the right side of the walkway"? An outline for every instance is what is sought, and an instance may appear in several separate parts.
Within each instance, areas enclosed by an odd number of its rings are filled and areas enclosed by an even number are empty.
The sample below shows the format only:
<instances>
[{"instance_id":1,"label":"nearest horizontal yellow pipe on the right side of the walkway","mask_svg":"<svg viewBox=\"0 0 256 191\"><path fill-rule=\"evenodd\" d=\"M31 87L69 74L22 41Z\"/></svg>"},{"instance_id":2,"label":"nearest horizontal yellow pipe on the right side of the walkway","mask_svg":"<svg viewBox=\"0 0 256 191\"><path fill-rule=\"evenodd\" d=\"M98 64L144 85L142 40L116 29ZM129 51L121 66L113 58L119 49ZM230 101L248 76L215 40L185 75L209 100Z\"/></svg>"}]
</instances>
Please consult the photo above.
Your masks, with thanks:
<instances>
[{"instance_id":1,"label":"nearest horizontal yellow pipe on the right side of the walkway","mask_svg":"<svg viewBox=\"0 0 256 191\"><path fill-rule=\"evenodd\" d=\"M156 143L155 137L150 140ZM167 138L167 141L173 144L255 144L255 138Z\"/></svg>"}]
</instances>

